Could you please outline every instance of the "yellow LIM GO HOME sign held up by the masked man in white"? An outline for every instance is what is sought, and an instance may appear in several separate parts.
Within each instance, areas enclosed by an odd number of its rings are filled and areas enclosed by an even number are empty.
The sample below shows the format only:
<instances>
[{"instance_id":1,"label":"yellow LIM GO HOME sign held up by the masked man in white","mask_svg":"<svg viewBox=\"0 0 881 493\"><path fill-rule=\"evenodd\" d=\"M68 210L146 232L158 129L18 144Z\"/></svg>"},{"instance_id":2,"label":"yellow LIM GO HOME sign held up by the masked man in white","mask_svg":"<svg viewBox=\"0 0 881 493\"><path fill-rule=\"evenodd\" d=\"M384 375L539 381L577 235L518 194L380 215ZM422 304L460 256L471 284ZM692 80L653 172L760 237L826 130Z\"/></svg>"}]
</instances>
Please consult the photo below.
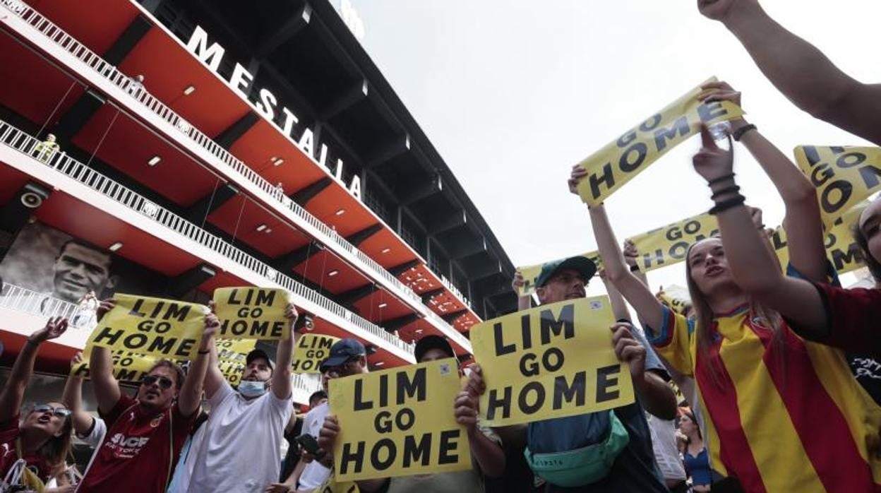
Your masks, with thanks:
<instances>
[{"instance_id":1,"label":"yellow LIM GO HOME sign held up by the masked man in white","mask_svg":"<svg viewBox=\"0 0 881 493\"><path fill-rule=\"evenodd\" d=\"M217 288L214 311L220 337L283 340L291 337L285 317L291 295L281 288Z\"/></svg>"}]
</instances>

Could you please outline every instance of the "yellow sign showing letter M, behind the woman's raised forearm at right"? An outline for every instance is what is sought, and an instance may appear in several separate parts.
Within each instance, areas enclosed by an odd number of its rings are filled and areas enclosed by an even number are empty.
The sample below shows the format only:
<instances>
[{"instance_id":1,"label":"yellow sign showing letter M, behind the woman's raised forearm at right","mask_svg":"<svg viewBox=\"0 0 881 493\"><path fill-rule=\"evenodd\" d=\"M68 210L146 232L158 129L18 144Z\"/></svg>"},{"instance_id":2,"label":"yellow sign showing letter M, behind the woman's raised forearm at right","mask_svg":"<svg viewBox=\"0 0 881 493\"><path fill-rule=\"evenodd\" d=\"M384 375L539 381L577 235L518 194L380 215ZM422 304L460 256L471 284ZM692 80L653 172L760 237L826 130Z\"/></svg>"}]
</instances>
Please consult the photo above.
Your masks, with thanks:
<instances>
[{"instance_id":1,"label":"yellow sign showing letter M, behind the woman's raised forearm at right","mask_svg":"<svg viewBox=\"0 0 881 493\"><path fill-rule=\"evenodd\" d=\"M831 228L826 228L824 240L826 258L832 262L837 273L849 273L865 265L862 260L860 245L854 239L853 228L856 221L860 219L862 210L867 205L869 205L868 202L857 204L847 213L844 213L843 216L833 220ZM786 266L789 264L789 250L786 232L782 227L774 230L771 244L774 246L777 258L780 259L781 267L786 269Z\"/></svg>"}]
</instances>

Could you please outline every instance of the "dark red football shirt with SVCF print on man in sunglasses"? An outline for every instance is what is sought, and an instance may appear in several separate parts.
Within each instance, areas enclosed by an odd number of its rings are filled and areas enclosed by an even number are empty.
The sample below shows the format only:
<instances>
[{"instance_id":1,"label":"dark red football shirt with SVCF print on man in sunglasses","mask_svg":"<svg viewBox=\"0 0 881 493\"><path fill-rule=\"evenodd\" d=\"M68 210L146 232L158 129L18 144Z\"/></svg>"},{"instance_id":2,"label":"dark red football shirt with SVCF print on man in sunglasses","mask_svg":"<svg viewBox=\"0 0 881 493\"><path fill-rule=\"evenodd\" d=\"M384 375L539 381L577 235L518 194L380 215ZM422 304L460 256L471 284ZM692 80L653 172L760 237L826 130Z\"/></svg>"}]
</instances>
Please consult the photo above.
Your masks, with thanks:
<instances>
[{"instance_id":1,"label":"dark red football shirt with SVCF print on man in sunglasses","mask_svg":"<svg viewBox=\"0 0 881 493\"><path fill-rule=\"evenodd\" d=\"M165 491L196 415L182 416L177 403L146 415L137 400L123 394L113 410L101 415L107 436L78 491Z\"/></svg>"}]
</instances>

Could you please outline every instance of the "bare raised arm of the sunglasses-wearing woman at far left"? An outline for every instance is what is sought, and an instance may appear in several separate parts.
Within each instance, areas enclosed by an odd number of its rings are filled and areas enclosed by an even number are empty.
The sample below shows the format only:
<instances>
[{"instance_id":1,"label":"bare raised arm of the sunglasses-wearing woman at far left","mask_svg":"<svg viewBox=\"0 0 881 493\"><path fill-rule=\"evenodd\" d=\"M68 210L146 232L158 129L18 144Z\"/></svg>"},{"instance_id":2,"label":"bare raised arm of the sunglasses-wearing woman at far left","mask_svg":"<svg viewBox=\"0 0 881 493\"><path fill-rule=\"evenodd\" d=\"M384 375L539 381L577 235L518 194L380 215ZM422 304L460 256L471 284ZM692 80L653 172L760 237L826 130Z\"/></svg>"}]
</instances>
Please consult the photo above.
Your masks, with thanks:
<instances>
[{"instance_id":1,"label":"bare raised arm of the sunglasses-wearing woman at far left","mask_svg":"<svg viewBox=\"0 0 881 493\"><path fill-rule=\"evenodd\" d=\"M19 357L12 364L9 380L0 391L0 422L9 421L19 414L19 407L25 398L27 382L33 375L33 363L37 361L37 350L47 340L56 339L67 330L67 318L49 318L46 325L27 337L21 347Z\"/></svg>"}]
</instances>

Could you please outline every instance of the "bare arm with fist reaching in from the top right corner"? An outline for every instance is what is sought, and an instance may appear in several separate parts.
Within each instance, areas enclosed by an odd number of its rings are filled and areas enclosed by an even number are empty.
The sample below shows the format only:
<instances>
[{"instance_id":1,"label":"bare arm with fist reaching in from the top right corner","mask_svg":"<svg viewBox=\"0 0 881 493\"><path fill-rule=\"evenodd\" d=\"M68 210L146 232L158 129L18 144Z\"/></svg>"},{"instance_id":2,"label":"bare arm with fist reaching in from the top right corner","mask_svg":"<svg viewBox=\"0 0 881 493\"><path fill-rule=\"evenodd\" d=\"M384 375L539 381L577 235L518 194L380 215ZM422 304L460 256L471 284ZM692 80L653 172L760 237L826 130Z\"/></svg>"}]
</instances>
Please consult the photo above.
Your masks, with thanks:
<instances>
[{"instance_id":1,"label":"bare arm with fist reaching in from the top right corner","mask_svg":"<svg viewBox=\"0 0 881 493\"><path fill-rule=\"evenodd\" d=\"M798 108L881 145L881 85L848 76L771 19L757 0L698 0L698 7L737 36L759 70Z\"/></svg>"}]
</instances>

